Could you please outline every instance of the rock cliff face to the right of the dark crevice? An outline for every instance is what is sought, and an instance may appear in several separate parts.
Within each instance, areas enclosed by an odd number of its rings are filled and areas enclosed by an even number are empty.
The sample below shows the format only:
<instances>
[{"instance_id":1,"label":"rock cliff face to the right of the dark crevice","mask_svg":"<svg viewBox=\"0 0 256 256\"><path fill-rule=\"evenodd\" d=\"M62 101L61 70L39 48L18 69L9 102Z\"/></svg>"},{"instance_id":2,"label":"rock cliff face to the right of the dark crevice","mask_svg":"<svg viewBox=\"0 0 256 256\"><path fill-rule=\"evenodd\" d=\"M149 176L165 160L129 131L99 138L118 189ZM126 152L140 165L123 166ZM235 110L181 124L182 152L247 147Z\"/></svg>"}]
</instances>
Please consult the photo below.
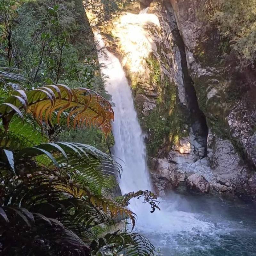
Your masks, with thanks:
<instances>
[{"instance_id":1,"label":"rock cliff face to the right of the dark crevice","mask_svg":"<svg viewBox=\"0 0 256 256\"><path fill-rule=\"evenodd\" d=\"M209 128L207 156L214 188L255 199L256 80L234 56L220 62L220 37L198 18L206 1L171 0L186 46L189 75Z\"/></svg>"}]
</instances>

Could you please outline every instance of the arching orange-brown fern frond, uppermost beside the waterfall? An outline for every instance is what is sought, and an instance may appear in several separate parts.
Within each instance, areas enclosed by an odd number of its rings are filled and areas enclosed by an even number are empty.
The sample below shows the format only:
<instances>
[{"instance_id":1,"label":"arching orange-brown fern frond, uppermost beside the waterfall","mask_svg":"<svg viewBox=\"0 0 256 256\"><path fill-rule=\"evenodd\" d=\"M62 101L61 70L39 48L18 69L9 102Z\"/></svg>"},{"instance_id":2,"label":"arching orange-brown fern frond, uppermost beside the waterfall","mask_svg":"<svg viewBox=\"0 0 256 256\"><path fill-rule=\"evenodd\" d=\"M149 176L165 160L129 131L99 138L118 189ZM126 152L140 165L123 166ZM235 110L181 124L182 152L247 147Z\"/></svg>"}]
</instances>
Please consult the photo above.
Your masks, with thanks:
<instances>
[{"instance_id":1,"label":"arching orange-brown fern frond, uppermost beside the waterfall","mask_svg":"<svg viewBox=\"0 0 256 256\"><path fill-rule=\"evenodd\" d=\"M57 113L57 123L63 111L69 112L67 125L95 126L101 128L105 135L111 130L114 111L108 100L86 88L70 89L64 84L46 85L25 92L14 91L4 103L0 104L0 117L5 130L14 114L23 117L23 112L32 113L39 124L52 122L52 113Z\"/></svg>"}]
</instances>

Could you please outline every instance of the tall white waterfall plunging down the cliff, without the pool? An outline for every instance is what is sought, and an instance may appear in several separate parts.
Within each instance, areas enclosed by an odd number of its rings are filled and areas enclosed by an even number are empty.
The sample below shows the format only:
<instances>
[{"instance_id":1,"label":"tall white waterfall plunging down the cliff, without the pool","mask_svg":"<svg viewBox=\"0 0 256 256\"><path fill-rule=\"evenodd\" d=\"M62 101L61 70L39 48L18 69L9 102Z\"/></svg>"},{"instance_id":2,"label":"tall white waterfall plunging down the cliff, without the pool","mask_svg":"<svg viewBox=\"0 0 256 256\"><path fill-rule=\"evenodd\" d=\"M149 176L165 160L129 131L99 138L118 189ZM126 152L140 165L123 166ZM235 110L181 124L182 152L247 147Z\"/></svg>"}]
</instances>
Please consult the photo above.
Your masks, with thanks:
<instances>
[{"instance_id":1,"label":"tall white waterfall plunging down the cliff, without the pool","mask_svg":"<svg viewBox=\"0 0 256 256\"><path fill-rule=\"evenodd\" d=\"M133 105L131 88L117 57L104 48L105 44L100 34L95 33L95 37L99 42L101 73L107 77L106 90L112 95L115 104L115 122L112 128L115 145L111 153L123 168L119 181L122 194L150 190L144 136ZM140 202L137 201L133 200L130 205L136 213L140 211Z\"/></svg>"}]
</instances>

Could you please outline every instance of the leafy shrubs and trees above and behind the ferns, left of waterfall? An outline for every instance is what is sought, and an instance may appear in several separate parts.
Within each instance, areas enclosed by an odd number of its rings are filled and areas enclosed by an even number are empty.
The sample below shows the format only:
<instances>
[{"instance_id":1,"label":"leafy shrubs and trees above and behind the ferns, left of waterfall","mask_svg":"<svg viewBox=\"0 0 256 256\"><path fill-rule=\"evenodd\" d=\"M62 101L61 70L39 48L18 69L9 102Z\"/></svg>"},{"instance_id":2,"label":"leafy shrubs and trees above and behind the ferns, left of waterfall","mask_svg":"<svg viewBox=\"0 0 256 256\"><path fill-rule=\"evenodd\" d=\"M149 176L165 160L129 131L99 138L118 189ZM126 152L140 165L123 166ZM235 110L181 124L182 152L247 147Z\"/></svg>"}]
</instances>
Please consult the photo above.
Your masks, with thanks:
<instances>
[{"instance_id":1,"label":"leafy shrubs and trees above and behind the ferns, left of waterfall","mask_svg":"<svg viewBox=\"0 0 256 256\"><path fill-rule=\"evenodd\" d=\"M99 76L93 35L82 1L3 0L0 12L1 65L24 76L26 88L63 83L71 88L90 88L110 98ZM62 134L70 140L73 133L59 132L54 134L55 139ZM113 145L108 142L95 146L107 152Z\"/></svg>"}]
</instances>

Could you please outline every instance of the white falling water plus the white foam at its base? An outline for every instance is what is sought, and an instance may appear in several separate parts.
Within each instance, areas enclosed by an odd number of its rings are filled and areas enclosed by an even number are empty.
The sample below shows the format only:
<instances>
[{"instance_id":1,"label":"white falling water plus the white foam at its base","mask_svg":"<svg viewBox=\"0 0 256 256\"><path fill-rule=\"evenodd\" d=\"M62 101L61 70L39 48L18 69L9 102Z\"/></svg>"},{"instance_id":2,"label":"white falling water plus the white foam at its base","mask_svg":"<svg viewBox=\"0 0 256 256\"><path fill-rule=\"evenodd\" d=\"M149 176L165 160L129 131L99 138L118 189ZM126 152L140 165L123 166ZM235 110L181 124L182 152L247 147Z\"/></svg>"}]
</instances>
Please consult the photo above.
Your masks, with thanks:
<instances>
[{"instance_id":1,"label":"white falling water plus the white foam at its base","mask_svg":"<svg viewBox=\"0 0 256 256\"><path fill-rule=\"evenodd\" d=\"M119 181L122 194L138 190L151 190L144 136L134 109L131 88L119 60L105 48L99 33L95 33L95 37L98 41L101 72L107 76L106 89L112 95L112 100L115 103L115 122L113 123L115 146L112 148L112 154L123 167ZM172 217L170 211L156 211L151 214L149 205L142 204L136 199L130 201L129 207L137 214L139 227L161 230L172 228L179 232L187 228L189 222L193 222L193 225L190 225L191 228L201 225L200 221L194 219L193 214L188 215L178 211L172 211ZM181 217L185 220L181 220Z\"/></svg>"}]
</instances>

